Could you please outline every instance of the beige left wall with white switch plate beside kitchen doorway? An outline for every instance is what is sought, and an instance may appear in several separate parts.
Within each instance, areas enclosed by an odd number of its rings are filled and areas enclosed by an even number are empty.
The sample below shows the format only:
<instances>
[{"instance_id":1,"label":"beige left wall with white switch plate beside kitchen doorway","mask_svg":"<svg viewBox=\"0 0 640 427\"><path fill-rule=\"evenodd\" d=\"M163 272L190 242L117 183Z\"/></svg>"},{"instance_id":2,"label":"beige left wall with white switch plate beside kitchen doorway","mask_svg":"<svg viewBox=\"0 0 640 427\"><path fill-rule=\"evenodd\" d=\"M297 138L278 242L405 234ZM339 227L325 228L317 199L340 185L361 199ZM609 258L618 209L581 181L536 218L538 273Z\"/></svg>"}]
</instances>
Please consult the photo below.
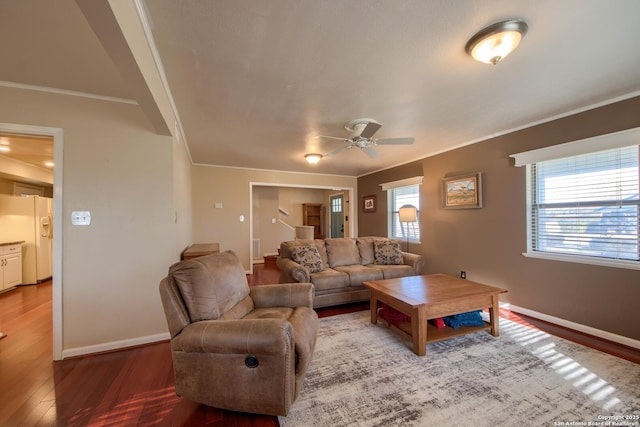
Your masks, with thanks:
<instances>
[{"instance_id":1,"label":"beige left wall with white switch plate beside kitchen doorway","mask_svg":"<svg viewBox=\"0 0 640 427\"><path fill-rule=\"evenodd\" d=\"M136 105L4 87L0 121L63 129L64 352L165 334L158 283L191 240L190 168L172 138ZM91 211L91 225L72 226L74 210Z\"/></svg>"}]
</instances>

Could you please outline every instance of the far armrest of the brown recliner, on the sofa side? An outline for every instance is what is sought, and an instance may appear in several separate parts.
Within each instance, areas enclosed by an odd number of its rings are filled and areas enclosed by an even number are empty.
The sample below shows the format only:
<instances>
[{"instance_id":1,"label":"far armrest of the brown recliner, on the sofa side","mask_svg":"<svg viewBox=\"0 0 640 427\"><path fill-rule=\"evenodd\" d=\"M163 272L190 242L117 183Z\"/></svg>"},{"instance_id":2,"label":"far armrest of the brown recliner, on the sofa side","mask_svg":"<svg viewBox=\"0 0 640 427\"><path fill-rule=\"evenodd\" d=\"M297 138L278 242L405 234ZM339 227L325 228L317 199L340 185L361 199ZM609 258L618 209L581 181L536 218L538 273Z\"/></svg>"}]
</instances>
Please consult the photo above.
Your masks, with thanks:
<instances>
[{"instance_id":1,"label":"far armrest of the brown recliner, on the sofa side","mask_svg":"<svg viewBox=\"0 0 640 427\"><path fill-rule=\"evenodd\" d=\"M312 283L281 283L252 286L250 291L256 308L309 307L313 308L315 288Z\"/></svg>"}]
</instances>

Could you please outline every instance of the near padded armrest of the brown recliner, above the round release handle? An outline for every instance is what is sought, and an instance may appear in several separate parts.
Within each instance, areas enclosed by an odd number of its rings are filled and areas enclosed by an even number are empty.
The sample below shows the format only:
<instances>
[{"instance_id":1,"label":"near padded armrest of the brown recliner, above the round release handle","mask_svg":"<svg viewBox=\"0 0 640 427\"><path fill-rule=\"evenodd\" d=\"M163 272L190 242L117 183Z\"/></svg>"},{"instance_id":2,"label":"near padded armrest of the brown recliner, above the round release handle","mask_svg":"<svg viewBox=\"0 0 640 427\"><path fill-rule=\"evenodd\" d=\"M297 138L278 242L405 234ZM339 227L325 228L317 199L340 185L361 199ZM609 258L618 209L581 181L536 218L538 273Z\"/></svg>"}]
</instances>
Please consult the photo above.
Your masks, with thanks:
<instances>
[{"instance_id":1,"label":"near padded armrest of the brown recliner, above the round release handle","mask_svg":"<svg viewBox=\"0 0 640 427\"><path fill-rule=\"evenodd\" d=\"M173 351L283 354L294 348L293 327L283 319L203 320L171 341Z\"/></svg>"}]
</instances>

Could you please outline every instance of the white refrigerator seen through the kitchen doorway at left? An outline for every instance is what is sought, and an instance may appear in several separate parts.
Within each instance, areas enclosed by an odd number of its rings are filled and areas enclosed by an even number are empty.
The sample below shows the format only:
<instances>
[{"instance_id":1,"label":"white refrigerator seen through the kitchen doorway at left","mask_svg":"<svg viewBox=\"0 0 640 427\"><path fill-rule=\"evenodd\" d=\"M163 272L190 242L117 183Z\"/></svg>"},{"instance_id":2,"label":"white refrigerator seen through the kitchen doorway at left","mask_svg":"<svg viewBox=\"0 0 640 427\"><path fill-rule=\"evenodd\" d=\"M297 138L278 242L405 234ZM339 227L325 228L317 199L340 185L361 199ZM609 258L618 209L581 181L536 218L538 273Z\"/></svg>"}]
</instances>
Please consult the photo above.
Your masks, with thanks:
<instances>
[{"instance_id":1,"label":"white refrigerator seen through the kitchen doorway at left","mask_svg":"<svg viewBox=\"0 0 640 427\"><path fill-rule=\"evenodd\" d=\"M0 242L24 240L22 284L40 283L51 277L52 200L0 195Z\"/></svg>"}]
</instances>

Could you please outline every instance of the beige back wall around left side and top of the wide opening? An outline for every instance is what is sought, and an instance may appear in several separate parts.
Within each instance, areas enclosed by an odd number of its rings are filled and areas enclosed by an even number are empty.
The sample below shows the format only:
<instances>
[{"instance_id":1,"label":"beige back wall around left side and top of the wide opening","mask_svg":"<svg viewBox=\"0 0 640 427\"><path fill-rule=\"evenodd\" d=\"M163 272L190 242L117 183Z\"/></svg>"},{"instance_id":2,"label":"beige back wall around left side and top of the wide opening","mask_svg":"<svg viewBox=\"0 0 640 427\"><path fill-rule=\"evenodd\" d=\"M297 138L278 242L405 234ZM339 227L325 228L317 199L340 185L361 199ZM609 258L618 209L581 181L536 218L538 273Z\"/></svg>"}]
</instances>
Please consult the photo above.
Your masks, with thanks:
<instances>
[{"instance_id":1,"label":"beige back wall around left side and top of the wide opening","mask_svg":"<svg viewBox=\"0 0 640 427\"><path fill-rule=\"evenodd\" d=\"M356 188L357 180L335 175L193 166L193 241L217 242L221 250L233 250L245 270L251 266L251 183L281 187ZM222 203L222 209L216 209ZM240 222L240 216L244 222Z\"/></svg>"}]
</instances>

